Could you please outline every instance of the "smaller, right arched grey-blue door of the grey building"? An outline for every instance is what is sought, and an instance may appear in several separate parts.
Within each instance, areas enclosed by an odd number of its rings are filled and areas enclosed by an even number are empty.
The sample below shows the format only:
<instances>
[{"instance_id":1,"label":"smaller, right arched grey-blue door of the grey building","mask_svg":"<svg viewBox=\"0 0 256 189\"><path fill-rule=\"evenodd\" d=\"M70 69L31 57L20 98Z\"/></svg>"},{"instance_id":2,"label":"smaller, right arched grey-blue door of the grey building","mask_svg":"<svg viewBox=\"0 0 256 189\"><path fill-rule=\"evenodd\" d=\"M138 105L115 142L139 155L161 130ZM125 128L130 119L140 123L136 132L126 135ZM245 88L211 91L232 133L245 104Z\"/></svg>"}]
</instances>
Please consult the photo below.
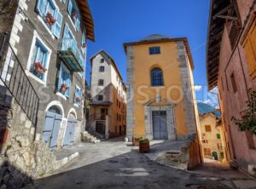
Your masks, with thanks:
<instances>
[{"instance_id":1,"label":"smaller, right arched grey-blue door of the grey building","mask_svg":"<svg viewBox=\"0 0 256 189\"><path fill-rule=\"evenodd\" d=\"M76 116L73 112L71 112L67 119L67 128L65 131L63 144L62 144L63 147L73 145L76 124L77 124Z\"/></svg>"}]
</instances>

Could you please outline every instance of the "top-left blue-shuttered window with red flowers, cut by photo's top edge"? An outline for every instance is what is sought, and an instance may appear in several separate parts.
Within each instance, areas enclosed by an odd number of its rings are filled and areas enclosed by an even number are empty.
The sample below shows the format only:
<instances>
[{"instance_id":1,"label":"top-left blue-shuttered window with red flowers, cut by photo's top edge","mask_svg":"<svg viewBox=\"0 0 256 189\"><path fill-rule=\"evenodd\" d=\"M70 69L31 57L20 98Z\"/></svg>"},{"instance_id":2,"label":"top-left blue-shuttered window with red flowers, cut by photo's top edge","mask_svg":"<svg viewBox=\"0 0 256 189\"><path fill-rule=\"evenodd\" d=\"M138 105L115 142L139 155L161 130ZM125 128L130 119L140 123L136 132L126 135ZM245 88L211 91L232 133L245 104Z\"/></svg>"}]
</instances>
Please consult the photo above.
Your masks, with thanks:
<instances>
[{"instance_id":1,"label":"top-left blue-shuttered window with red flowers, cut by photo's top edge","mask_svg":"<svg viewBox=\"0 0 256 189\"><path fill-rule=\"evenodd\" d=\"M62 14L54 0L38 0L36 7L38 14L41 16L44 23L48 26L55 37L60 37Z\"/></svg>"}]
</instances>

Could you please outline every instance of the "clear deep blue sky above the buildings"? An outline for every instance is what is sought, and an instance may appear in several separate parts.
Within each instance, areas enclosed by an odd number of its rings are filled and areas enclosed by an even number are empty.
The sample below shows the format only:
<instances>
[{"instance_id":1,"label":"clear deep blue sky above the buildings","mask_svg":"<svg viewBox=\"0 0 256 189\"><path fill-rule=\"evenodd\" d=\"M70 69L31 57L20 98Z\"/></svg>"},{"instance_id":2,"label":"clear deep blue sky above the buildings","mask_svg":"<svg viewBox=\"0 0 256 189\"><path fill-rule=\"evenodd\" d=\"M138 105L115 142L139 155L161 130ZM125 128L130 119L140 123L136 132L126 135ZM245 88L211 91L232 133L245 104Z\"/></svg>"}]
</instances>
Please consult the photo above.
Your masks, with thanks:
<instances>
[{"instance_id":1,"label":"clear deep blue sky above the buildings","mask_svg":"<svg viewBox=\"0 0 256 189\"><path fill-rule=\"evenodd\" d=\"M90 78L90 57L104 49L115 60L126 82L123 43L135 42L157 33L188 37L195 62L197 99L206 100L206 41L208 0L89 0L95 22L96 42L88 42L86 78Z\"/></svg>"}]
</instances>

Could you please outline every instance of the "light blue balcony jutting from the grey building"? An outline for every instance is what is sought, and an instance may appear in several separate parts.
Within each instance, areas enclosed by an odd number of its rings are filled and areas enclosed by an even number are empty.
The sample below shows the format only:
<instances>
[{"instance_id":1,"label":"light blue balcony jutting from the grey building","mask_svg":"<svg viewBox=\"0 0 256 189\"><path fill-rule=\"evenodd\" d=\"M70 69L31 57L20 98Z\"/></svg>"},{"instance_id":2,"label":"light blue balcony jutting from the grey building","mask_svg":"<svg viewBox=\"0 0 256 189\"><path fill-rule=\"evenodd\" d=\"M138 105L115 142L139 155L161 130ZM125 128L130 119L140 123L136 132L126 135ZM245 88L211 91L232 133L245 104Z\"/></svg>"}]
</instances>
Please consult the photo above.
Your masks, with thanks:
<instances>
[{"instance_id":1,"label":"light blue balcony jutting from the grey building","mask_svg":"<svg viewBox=\"0 0 256 189\"><path fill-rule=\"evenodd\" d=\"M84 58L73 39L62 41L60 57L71 72L84 72Z\"/></svg>"}]
</instances>

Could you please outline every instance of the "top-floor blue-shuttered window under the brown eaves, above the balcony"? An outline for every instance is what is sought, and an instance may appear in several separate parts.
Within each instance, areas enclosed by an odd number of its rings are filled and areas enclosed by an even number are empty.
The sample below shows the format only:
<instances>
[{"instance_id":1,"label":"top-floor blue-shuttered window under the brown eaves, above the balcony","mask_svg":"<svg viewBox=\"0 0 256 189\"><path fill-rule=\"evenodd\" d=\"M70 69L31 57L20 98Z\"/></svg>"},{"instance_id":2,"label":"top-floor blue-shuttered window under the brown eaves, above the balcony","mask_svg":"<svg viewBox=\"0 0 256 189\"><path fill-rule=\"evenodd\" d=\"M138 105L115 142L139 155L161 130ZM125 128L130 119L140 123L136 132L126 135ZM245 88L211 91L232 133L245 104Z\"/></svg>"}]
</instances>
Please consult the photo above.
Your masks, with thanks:
<instances>
[{"instance_id":1,"label":"top-floor blue-shuttered window under the brown eaves, above the balcony","mask_svg":"<svg viewBox=\"0 0 256 189\"><path fill-rule=\"evenodd\" d=\"M79 31L81 16L79 14L79 8L77 6L77 3L75 3L74 0L69 0L68 6L67 6L67 12L71 20L73 21L73 25L75 26L76 30Z\"/></svg>"}]
</instances>

